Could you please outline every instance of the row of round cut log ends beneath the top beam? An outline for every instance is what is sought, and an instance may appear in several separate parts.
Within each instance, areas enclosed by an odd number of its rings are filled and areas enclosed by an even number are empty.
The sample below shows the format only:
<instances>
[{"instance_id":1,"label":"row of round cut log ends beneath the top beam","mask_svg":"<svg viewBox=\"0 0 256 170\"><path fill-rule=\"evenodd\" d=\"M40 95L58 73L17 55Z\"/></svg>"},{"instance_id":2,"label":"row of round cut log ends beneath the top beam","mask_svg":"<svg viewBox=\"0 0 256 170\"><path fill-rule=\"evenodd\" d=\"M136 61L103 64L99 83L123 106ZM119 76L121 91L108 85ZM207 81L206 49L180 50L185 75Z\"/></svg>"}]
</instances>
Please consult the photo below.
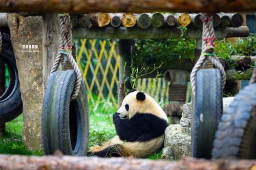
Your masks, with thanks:
<instances>
[{"instance_id":1,"label":"row of round cut log ends beneath the top beam","mask_svg":"<svg viewBox=\"0 0 256 170\"><path fill-rule=\"evenodd\" d=\"M234 27L242 26L243 17L234 13L213 14L214 27ZM201 14L188 13L90 13L82 15L72 15L72 27L79 25L81 28L100 27L139 27L147 29L149 27L195 27L202 28Z\"/></svg>"}]
</instances>

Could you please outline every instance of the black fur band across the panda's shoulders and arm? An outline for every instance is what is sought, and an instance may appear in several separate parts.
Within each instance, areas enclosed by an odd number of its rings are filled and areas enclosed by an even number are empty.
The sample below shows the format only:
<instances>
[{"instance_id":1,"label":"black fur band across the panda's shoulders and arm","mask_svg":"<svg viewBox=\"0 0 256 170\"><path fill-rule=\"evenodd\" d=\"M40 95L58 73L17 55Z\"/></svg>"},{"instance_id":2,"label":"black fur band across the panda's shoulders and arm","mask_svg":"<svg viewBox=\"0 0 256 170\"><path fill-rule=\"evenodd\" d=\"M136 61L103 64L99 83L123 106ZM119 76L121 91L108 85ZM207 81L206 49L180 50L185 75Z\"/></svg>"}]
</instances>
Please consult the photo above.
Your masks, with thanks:
<instances>
[{"instance_id":1,"label":"black fur band across the panda's shoulders and arm","mask_svg":"<svg viewBox=\"0 0 256 170\"><path fill-rule=\"evenodd\" d=\"M164 134L168 124L150 113L136 113L131 119L121 119L117 113L113 115L117 135L127 142L149 141Z\"/></svg>"}]
</instances>

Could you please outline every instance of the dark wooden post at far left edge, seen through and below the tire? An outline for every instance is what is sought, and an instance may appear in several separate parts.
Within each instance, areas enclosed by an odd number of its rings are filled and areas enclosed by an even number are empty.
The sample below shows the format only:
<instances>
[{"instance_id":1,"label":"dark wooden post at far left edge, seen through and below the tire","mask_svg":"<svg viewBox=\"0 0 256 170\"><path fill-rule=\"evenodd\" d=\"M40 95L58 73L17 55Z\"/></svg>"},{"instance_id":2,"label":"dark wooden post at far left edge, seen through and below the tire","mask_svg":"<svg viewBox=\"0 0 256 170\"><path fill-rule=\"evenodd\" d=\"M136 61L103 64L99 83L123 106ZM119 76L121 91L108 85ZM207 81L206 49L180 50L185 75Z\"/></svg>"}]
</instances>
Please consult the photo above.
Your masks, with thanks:
<instances>
[{"instance_id":1,"label":"dark wooden post at far left edge, seen through and below the tire","mask_svg":"<svg viewBox=\"0 0 256 170\"><path fill-rule=\"evenodd\" d=\"M1 33L0 33L1 34ZM0 96L5 92L5 62L0 58ZM5 133L5 123L0 123L0 137Z\"/></svg>"}]
</instances>

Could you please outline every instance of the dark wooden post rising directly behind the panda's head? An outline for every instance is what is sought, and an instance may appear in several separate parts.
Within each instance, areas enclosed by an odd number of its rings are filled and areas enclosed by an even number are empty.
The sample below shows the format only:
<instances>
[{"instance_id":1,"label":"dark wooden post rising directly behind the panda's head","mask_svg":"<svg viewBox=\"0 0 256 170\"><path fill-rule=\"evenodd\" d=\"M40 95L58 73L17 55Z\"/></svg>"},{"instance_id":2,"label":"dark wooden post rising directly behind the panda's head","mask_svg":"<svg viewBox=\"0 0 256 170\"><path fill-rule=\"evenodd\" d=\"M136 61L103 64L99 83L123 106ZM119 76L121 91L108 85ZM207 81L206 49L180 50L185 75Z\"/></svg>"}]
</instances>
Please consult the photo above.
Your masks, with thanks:
<instances>
[{"instance_id":1,"label":"dark wooden post rising directly behind the panda's head","mask_svg":"<svg viewBox=\"0 0 256 170\"><path fill-rule=\"evenodd\" d=\"M120 39L118 41L118 53L120 55L119 64L119 85L118 85L118 105L122 105L125 92L131 90L131 55L134 48L134 40ZM126 90L125 90L126 89Z\"/></svg>"}]
</instances>

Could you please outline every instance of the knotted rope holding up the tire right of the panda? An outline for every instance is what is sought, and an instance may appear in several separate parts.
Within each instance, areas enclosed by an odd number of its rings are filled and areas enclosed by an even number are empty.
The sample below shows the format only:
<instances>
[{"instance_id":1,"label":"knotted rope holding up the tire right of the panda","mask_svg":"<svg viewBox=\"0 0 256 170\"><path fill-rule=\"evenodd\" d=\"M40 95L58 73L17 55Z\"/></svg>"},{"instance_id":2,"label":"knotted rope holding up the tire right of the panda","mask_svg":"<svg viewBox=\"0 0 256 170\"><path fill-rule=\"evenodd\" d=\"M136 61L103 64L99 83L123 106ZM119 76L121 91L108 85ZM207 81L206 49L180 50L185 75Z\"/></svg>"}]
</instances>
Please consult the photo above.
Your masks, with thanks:
<instances>
[{"instance_id":1,"label":"knotted rope holding up the tire right of the panda","mask_svg":"<svg viewBox=\"0 0 256 170\"><path fill-rule=\"evenodd\" d=\"M203 34L202 34L202 53L197 63L190 74L190 83L193 91L193 95L196 94L196 72L199 70L200 66L203 62L208 58L217 68L220 69L222 75L222 88L224 88L226 84L226 72L221 65L220 61L217 59L215 55L215 32L214 26L212 23L212 17L207 14L202 14L202 22L203 22Z\"/></svg>"}]
</instances>

